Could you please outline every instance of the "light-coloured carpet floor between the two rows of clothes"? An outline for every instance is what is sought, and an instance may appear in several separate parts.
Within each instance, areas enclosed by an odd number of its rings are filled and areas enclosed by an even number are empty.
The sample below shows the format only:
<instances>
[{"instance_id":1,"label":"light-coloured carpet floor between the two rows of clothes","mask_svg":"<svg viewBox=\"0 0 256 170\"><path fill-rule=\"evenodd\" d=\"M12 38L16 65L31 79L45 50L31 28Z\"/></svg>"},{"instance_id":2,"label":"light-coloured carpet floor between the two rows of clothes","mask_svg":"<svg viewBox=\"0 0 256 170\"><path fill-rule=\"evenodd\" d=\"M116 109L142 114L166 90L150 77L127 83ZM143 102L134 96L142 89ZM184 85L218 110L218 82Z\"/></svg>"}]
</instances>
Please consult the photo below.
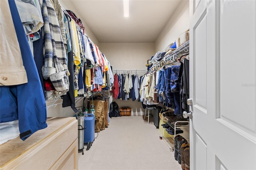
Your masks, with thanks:
<instances>
[{"instance_id":1,"label":"light-coloured carpet floor between the two rows of clothes","mask_svg":"<svg viewBox=\"0 0 256 170\"><path fill-rule=\"evenodd\" d=\"M161 126L161 125L160 125ZM97 133L95 133L95 137ZM78 153L80 170L181 170L160 132L144 116L113 117L98 133L84 155Z\"/></svg>"}]
</instances>

